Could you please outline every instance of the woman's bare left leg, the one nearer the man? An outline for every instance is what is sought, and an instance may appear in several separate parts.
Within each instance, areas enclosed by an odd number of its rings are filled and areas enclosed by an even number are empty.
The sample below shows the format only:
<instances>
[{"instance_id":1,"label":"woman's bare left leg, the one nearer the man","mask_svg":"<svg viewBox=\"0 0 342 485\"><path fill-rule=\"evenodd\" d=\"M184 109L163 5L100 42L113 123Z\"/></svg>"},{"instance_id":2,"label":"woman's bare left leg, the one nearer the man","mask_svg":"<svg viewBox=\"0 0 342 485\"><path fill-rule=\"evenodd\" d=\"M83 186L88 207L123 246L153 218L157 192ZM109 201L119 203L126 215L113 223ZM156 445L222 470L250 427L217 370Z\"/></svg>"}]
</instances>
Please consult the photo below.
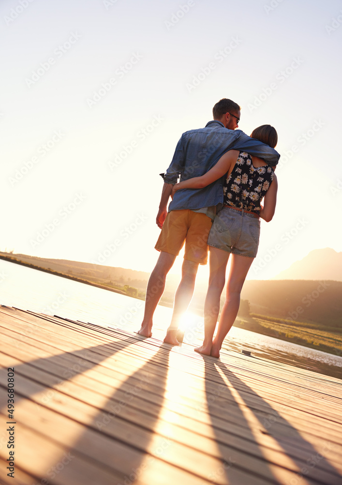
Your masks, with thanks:
<instances>
[{"instance_id":1,"label":"woman's bare left leg, the one nearer the man","mask_svg":"<svg viewBox=\"0 0 342 485\"><path fill-rule=\"evenodd\" d=\"M225 270L230 253L209 246L209 286L204 304L204 340L196 352L210 355L212 338L220 311L220 298L225 282Z\"/></svg>"}]
</instances>

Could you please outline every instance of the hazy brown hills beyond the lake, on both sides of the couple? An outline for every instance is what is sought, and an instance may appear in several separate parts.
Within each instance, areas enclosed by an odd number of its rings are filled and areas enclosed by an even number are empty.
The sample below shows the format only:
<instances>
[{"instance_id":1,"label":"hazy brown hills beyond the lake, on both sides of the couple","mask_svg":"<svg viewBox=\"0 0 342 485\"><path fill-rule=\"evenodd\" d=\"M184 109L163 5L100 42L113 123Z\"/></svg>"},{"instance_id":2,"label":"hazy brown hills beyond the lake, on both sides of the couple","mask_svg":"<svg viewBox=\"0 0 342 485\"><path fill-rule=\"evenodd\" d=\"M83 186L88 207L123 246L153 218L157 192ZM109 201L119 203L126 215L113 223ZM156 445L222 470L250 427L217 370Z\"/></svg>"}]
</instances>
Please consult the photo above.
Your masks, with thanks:
<instances>
[{"instance_id":1,"label":"hazy brown hills beyond the lake, on both sides of the couple","mask_svg":"<svg viewBox=\"0 0 342 485\"><path fill-rule=\"evenodd\" d=\"M336 253L337 254L337 253ZM1 259L21 262L111 291L144 299L149 273L113 268L80 261L45 259L28 255L0 253ZM180 277L169 275L161 304L172 306ZM206 285L196 285L190 310L203 312ZM224 293L223 293L224 294ZM342 328L342 282L319 280L247 280L241 299L249 301L253 313L294 322L312 322L322 327ZM223 303L224 296L221 299ZM240 314L246 313L245 303Z\"/></svg>"}]
</instances>

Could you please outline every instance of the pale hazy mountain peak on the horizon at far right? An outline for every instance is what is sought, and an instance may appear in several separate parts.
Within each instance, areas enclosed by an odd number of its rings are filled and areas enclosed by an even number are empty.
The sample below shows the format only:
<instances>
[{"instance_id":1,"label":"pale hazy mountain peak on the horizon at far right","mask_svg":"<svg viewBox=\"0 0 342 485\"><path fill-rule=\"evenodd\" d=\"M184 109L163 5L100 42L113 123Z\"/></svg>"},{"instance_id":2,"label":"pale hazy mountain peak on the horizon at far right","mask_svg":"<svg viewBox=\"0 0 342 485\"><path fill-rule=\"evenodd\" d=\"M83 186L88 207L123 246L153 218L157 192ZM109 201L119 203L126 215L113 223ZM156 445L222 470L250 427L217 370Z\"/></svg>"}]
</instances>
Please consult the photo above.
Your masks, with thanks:
<instances>
[{"instance_id":1,"label":"pale hazy mountain peak on the horizon at far right","mask_svg":"<svg viewBox=\"0 0 342 485\"><path fill-rule=\"evenodd\" d=\"M271 279L342 281L342 252L337 253L330 247L314 249Z\"/></svg>"}]
</instances>

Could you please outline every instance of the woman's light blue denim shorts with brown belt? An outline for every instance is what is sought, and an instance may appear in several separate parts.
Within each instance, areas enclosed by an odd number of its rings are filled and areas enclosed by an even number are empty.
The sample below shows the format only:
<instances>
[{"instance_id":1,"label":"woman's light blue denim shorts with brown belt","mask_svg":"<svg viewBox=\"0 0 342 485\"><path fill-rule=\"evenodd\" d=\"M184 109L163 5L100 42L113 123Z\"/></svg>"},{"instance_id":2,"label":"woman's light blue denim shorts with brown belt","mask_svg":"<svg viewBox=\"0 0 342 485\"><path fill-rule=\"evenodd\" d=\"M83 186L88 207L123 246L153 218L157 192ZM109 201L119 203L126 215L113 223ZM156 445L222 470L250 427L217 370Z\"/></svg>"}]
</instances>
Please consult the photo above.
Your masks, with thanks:
<instances>
[{"instance_id":1,"label":"woman's light blue denim shorts with brown belt","mask_svg":"<svg viewBox=\"0 0 342 485\"><path fill-rule=\"evenodd\" d=\"M223 207L211 226L208 245L228 253L255 258L259 237L259 218L231 207Z\"/></svg>"}]
</instances>

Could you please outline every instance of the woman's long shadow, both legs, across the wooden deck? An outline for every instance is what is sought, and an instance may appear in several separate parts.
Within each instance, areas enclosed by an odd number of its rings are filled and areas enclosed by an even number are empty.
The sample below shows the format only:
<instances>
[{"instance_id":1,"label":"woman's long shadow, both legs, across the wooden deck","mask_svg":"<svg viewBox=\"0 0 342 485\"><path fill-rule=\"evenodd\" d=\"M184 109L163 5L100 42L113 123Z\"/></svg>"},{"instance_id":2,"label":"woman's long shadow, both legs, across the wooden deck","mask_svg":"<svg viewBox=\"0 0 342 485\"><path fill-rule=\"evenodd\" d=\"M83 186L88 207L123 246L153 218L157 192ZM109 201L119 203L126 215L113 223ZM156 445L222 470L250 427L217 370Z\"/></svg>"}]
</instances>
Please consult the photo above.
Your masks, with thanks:
<instances>
[{"instance_id":1,"label":"woman's long shadow, both legs, across the wooden deck","mask_svg":"<svg viewBox=\"0 0 342 485\"><path fill-rule=\"evenodd\" d=\"M215 424L215 419L220 416L222 420L225 420L229 426L229 422L236 422L238 425L241 424L243 428L242 433L239 436L243 436L246 439L245 459L248 459L248 454L254 456L255 459L259 461L258 473L262 476L264 475L268 480L275 480L278 483L277 478L273 475L271 469L268 466L269 456L266 458L263 456L263 447L260 447L253 435L250 427L250 423L246 420L239 406L237 406L234 401L235 398L232 395L231 390L228 388L227 384L224 382L222 375L219 373L219 369L227 380L230 382L232 388L238 393L239 398L245 402L246 397L252 398L253 405L246 404L249 411L253 413L253 418L255 417L260 422L260 427L264 427L265 419L271 417L271 426L268 427L268 434L272 436L274 440L283 448L284 453L297 465L299 470L303 470L302 474L298 472L298 475L294 475L294 480L299 483L303 478L312 479L315 483L324 483L329 485L337 485L341 482L340 473L327 461L322 454L317 454L317 450L312 446L310 442L301 436L298 430L286 419L284 419L267 401L260 397L253 389L247 386L241 379L239 379L233 372L231 372L225 364L220 360L205 360L206 366L206 390L208 398L208 408L209 414L212 419L213 431L216 434L218 446L222 453L224 462L226 463L225 474L227 482L232 485L235 484L230 476L229 469L231 466L238 467L242 469L247 469L245 461L231 463L229 452L224 446L222 438L222 430L218 430L217 424ZM212 405L210 404L210 399L212 400L212 382L217 383L219 386L224 386L224 398L221 400L220 396L215 397ZM211 385L209 384L211 383ZM223 388L221 388L223 389ZM232 416L231 406L227 406L226 399L233 400L234 403L234 416ZM221 401L221 403L220 403ZM217 406L222 404L220 410ZM238 410L238 416L237 415ZM284 433L285 432L285 433ZM228 431L229 433L229 431ZM291 436L287 439L287 436ZM231 435L227 434L225 442L229 443ZM295 446L294 446L295 443ZM234 440L232 440L232 446L234 446ZM322 451L322 450L321 450ZM277 461L274 462L277 464ZM321 470L317 477L317 470ZM323 479L323 481L322 481Z\"/></svg>"}]
</instances>

